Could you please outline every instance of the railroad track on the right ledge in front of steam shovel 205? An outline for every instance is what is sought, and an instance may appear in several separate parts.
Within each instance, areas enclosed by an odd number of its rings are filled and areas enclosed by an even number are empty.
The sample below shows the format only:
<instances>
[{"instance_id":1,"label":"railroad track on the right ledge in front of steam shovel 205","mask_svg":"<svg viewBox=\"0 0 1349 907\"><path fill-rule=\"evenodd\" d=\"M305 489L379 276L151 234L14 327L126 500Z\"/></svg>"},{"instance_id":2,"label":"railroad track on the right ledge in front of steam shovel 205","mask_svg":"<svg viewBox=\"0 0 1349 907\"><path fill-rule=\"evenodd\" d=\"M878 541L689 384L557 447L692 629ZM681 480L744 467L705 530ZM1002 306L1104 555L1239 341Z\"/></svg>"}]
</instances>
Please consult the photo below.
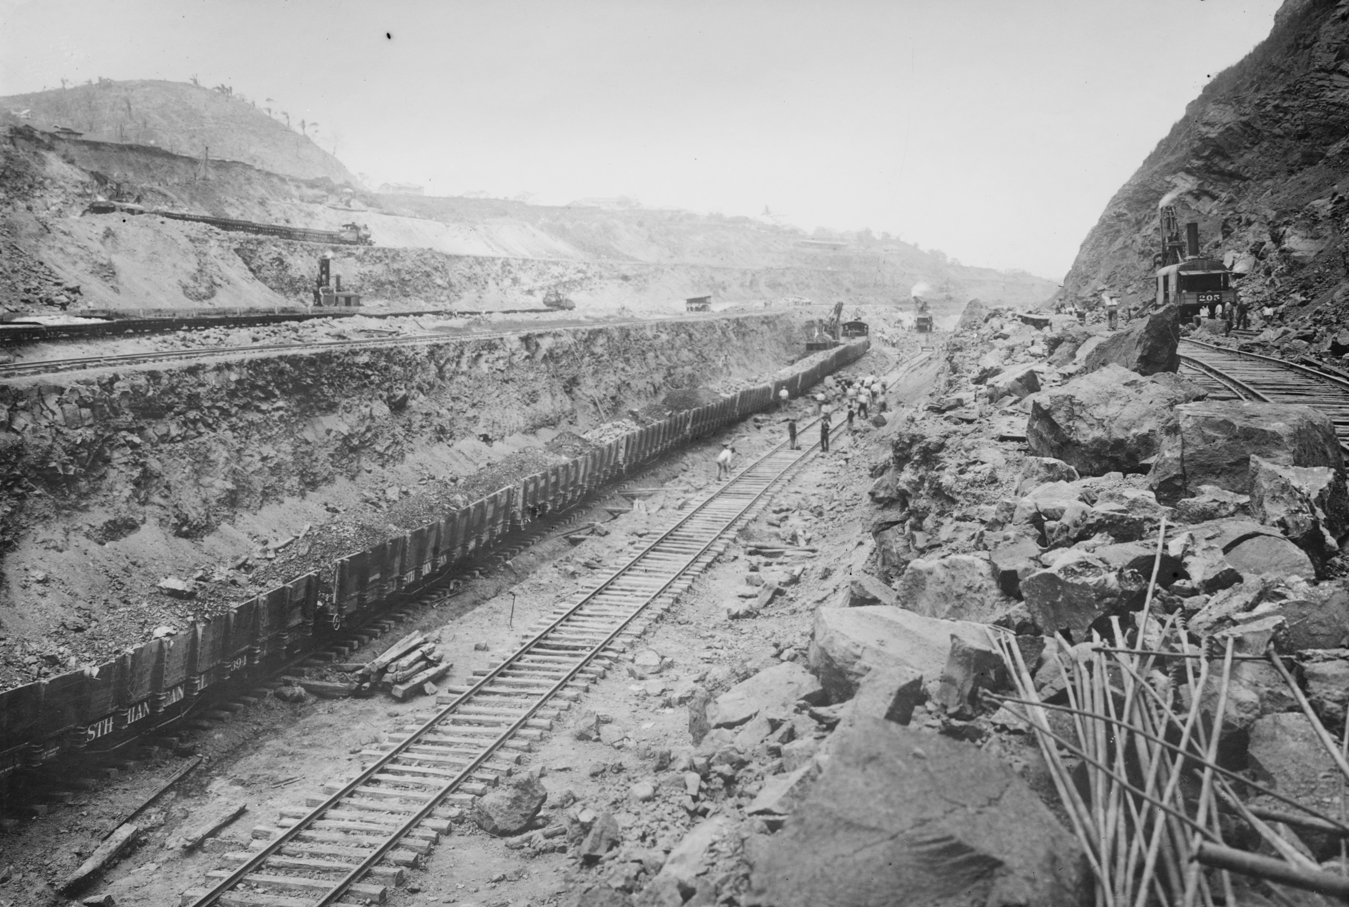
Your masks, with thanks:
<instances>
[{"instance_id":1,"label":"railroad track on the right ledge in front of steam shovel 205","mask_svg":"<svg viewBox=\"0 0 1349 907\"><path fill-rule=\"evenodd\" d=\"M1183 372L1199 376L1236 399L1299 403L1321 410L1334 423L1340 446L1349 451L1349 380L1260 353L1188 338L1183 344Z\"/></svg>"}]
</instances>

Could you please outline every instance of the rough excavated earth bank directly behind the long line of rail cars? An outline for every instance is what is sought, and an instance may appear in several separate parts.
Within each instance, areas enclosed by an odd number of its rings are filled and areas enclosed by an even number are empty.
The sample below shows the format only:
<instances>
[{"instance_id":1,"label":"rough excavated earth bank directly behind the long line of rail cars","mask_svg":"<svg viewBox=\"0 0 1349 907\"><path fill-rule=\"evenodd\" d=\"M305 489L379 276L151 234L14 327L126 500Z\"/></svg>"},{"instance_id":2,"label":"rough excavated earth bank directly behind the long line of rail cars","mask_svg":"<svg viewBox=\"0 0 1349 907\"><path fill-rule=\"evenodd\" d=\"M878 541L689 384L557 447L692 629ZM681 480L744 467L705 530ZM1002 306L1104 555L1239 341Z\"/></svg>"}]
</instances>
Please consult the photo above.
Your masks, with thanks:
<instances>
[{"instance_id":1,"label":"rough excavated earth bank directly behind the long line of rail cars","mask_svg":"<svg viewBox=\"0 0 1349 907\"><path fill-rule=\"evenodd\" d=\"M753 315L13 381L0 388L0 686L407 531L672 391L772 372L800 342L788 315ZM197 597L158 592L170 575Z\"/></svg>"}]
</instances>

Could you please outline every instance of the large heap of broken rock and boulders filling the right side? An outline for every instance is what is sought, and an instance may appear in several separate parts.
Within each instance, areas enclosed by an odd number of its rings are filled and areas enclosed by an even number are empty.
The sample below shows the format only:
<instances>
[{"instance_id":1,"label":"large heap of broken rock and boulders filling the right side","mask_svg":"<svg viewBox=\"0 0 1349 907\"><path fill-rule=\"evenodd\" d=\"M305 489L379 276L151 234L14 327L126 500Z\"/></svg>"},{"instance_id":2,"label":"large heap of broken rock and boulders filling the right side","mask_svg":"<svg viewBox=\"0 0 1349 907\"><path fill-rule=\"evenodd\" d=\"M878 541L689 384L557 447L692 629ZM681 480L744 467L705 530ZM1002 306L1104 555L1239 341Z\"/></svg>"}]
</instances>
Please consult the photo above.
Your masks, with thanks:
<instances>
[{"instance_id":1,"label":"large heap of broken rock and boulders filling the right side","mask_svg":"<svg viewBox=\"0 0 1349 907\"><path fill-rule=\"evenodd\" d=\"M958 333L931 402L876 435L889 456L855 513L869 573L815 611L804 663L672 694L691 745L657 755L631 796L696 823L676 841L681 826L653 818L661 833L637 846L600 813L569 815L577 856L602 871L576 902L1079 903L1091 873L1033 739L983 695L1009 683L989 625L1048 702L1066 702L1062 652L1114 627L1145 648L1272 646L1342 729L1349 493L1333 426L1307 407L1205 399L1175 373L1178 338L1174 310L1114 336L1000 311ZM1153 570L1163 620L1140 637ZM1224 757L1252 779L1340 795L1268 663L1238 663L1221 726ZM1333 856L1333 838L1298 844Z\"/></svg>"}]
</instances>

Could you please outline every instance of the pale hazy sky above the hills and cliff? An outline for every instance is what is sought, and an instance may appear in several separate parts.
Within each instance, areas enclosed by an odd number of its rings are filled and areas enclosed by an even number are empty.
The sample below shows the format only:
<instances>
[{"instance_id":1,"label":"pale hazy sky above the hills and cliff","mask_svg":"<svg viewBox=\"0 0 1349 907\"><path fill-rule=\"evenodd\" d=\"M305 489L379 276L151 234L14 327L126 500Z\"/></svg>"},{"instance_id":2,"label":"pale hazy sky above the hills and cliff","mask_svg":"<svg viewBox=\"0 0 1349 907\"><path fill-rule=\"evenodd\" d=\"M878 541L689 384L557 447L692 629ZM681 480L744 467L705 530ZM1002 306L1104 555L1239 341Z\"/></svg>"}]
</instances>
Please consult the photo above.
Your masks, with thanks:
<instances>
[{"instance_id":1,"label":"pale hazy sky above the hills and cliff","mask_svg":"<svg viewBox=\"0 0 1349 907\"><path fill-rule=\"evenodd\" d=\"M0 0L0 94L198 75L374 183L888 230L1060 279L1279 0Z\"/></svg>"}]
</instances>

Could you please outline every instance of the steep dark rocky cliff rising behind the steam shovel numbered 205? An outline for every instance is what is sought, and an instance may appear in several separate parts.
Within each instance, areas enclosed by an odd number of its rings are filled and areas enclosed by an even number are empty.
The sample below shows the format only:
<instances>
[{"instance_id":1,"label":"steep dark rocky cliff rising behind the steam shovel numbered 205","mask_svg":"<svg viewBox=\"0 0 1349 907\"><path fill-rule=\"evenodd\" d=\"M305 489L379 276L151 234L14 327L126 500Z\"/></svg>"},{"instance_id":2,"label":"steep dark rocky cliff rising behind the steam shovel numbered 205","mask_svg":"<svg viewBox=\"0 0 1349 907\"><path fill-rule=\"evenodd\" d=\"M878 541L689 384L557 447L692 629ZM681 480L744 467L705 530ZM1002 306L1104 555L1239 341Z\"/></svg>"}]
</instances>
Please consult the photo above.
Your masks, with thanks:
<instances>
[{"instance_id":1,"label":"steep dark rocky cliff rising behind the steam shovel numbered 205","mask_svg":"<svg viewBox=\"0 0 1349 907\"><path fill-rule=\"evenodd\" d=\"M1290 321L1331 322L1349 296L1349 3L1287 0L1269 36L1218 74L1087 234L1063 284L1151 298L1159 202L1198 221L1241 295Z\"/></svg>"}]
</instances>

